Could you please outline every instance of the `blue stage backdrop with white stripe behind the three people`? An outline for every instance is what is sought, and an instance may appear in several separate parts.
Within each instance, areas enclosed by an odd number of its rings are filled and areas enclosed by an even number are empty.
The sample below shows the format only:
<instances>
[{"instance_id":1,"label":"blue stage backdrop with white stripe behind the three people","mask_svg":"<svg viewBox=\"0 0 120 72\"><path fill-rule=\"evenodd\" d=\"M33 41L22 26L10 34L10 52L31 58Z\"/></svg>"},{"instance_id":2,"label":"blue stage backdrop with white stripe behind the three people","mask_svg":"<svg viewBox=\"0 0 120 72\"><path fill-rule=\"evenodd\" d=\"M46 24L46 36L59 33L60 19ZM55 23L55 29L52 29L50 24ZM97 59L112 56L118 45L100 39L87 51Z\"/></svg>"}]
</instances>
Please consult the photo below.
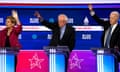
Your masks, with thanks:
<instances>
[{"instance_id":1,"label":"blue stage backdrop with white stripe behind the three people","mask_svg":"<svg viewBox=\"0 0 120 72\"><path fill-rule=\"evenodd\" d=\"M120 11L120 4L93 5L96 14L105 20L111 11ZM112 8L111 8L112 7ZM101 47L102 27L90 16L87 5L67 6L0 6L0 27L5 25L6 16L11 15L11 10L17 10L23 31L19 36L22 49L43 49L51 39L51 31L34 17L34 12L39 11L44 19L56 22L57 16L64 13L69 17L68 23L76 28L77 50L88 50L92 47Z\"/></svg>"}]
</instances>

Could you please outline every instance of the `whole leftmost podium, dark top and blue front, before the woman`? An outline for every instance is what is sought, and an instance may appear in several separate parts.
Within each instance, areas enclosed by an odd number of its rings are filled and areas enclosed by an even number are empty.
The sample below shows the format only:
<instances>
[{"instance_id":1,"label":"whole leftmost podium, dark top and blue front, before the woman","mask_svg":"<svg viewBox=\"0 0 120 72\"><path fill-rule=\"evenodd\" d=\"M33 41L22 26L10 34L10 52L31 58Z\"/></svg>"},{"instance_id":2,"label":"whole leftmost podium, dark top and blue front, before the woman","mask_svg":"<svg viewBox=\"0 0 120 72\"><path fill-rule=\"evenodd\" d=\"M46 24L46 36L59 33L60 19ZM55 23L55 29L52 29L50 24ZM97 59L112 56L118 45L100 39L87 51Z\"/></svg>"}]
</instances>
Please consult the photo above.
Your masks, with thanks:
<instances>
[{"instance_id":1,"label":"whole leftmost podium, dark top and blue front, before the woman","mask_svg":"<svg viewBox=\"0 0 120 72\"><path fill-rule=\"evenodd\" d=\"M0 72L15 72L15 55L18 48L0 48Z\"/></svg>"}]
</instances>

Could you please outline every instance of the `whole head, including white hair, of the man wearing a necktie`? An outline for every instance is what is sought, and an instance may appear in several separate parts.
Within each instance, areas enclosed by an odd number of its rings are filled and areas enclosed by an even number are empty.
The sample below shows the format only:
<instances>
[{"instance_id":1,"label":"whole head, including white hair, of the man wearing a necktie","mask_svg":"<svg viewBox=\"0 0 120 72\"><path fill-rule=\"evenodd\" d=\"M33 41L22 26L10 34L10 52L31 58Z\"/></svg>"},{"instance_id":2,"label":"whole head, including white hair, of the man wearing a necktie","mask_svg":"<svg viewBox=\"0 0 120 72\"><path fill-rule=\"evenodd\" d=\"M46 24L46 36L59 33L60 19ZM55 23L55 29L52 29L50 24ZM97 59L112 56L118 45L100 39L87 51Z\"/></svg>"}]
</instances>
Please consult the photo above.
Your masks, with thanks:
<instances>
[{"instance_id":1,"label":"whole head, including white hair, of the man wearing a necktie","mask_svg":"<svg viewBox=\"0 0 120 72\"><path fill-rule=\"evenodd\" d=\"M119 12L118 11L112 11L111 13L110 13L110 24L111 25L114 25L114 24L116 24L117 22L118 22L118 20L119 20Z\"/></svg>"}]
</instances>

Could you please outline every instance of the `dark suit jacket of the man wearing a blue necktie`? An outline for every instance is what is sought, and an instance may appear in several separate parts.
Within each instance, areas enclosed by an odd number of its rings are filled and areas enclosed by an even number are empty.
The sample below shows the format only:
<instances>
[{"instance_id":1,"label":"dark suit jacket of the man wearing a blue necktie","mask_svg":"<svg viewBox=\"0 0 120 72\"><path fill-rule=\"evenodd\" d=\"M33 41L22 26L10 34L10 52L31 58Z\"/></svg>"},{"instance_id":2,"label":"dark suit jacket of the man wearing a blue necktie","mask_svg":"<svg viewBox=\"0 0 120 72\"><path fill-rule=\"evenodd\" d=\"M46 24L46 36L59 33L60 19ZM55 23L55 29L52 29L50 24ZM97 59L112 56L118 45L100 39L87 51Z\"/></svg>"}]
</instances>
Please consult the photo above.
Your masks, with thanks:
<instances>
[{"instance_id":1,"label":"dark suit jacket of the man wearing a blue necktie","mask_svg":"<svg viewBox=\"0 0 120 72\"><path fill-rule=\"evenodd\" d=\"M95 19L96 22L98 22L98 24L100 24L104 28L103 35L101 38L101 42L102 42L101 44L102 44L102 47L104 47L105 32L111 26L110 21L109 20L108 21L101 20L97 15L93 15L92 17ZM118 24L112 33L112 36L110 39L110 48L115 48L115 47L120 48L119 36L120 36L120 25Z\"/></svg>"}]
</instances>

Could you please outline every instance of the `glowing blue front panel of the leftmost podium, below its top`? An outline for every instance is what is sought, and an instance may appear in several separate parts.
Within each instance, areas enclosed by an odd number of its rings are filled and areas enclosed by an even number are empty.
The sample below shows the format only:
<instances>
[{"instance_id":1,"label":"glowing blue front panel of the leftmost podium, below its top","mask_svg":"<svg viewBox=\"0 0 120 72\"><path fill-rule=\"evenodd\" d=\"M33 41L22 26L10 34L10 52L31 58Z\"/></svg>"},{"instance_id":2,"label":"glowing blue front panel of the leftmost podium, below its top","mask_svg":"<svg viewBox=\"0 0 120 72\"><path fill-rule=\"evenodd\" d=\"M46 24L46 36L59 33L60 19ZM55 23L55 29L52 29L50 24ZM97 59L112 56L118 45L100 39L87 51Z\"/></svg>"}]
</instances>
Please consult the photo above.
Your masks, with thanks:
<instances>
[{"instance_id":1,"label":"glowing blue front panel of the leftmost podium, below its top","mask_svg":"<svg viewBox=\"0 0 120 72\"><path fill-rule=\"evenodd\" d=\"M0 54L0 72L14 72L14 55Z\"/></svg>"}]
</instances>

